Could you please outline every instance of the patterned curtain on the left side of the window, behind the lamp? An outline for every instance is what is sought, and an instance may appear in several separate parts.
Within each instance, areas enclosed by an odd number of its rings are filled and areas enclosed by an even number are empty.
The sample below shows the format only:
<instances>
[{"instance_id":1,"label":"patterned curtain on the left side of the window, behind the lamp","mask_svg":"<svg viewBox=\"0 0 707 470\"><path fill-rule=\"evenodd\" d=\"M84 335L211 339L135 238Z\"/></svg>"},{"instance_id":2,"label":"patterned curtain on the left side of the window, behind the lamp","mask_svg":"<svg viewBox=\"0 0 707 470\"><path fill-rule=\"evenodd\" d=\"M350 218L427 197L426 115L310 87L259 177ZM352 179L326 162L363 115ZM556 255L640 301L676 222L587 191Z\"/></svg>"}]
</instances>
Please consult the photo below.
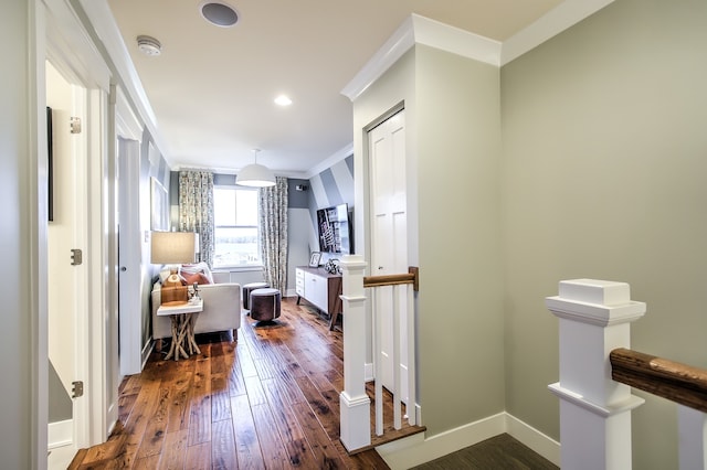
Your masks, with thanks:
<instances>
[{"instance_id":1,"label":"patterned curtain on the left side of the window, behind the lamp","mask_svg":"<svg viewBox=\"0 0 707 470\"><path fill-rule=\"evenodd\" d=\"M179 231L199 234L199 260L213 267L213 173L179 172Z\"/></svg>"}]
</instances>

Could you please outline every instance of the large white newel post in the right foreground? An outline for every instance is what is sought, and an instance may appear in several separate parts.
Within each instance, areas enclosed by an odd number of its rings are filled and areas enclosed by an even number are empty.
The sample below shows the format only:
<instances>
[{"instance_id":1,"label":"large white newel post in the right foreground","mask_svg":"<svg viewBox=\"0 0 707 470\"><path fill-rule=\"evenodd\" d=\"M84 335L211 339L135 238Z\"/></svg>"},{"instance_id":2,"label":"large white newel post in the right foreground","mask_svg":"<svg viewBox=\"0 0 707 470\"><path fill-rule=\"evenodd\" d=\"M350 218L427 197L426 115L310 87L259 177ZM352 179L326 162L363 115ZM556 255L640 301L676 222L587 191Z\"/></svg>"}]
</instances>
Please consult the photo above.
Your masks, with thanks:
<instances>
[{"instance_id":1,"label":"large white newel post in the right foreground","mask_svg":"<svg viewBox=\"0 0 707 470\"><path fill-rule=\"evenodd\" d=\"M560 382L548 387L560 398L560 467L631 469L631 410L644 400L611 378L609 354L630 348L645 303L625 282L574 279L546 305L560 327Z\"/></svg>"}]
</instances>

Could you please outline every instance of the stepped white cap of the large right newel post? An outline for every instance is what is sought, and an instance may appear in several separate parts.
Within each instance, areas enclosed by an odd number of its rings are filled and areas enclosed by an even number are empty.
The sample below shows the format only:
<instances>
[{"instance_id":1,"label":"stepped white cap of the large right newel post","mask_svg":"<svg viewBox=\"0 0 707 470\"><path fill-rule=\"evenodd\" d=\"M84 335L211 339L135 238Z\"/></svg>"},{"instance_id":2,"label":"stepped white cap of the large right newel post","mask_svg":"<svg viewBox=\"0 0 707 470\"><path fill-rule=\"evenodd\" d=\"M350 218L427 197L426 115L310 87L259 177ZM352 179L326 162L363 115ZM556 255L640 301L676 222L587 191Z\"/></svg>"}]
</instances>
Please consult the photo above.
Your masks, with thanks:
<instances>
[{"instance_id":1,"label":"stepped white cap of the large right newel post","mask_svg":"<svg viewBox=\"0 0 707 470\"><path fill-rule=\"evenodd\" d=\"M557 317L602 327L637 320L646 311L645 302L631 300L626 282L598 279L562 280L559 295L545 303Z\"/></svg>"}]
</instances>

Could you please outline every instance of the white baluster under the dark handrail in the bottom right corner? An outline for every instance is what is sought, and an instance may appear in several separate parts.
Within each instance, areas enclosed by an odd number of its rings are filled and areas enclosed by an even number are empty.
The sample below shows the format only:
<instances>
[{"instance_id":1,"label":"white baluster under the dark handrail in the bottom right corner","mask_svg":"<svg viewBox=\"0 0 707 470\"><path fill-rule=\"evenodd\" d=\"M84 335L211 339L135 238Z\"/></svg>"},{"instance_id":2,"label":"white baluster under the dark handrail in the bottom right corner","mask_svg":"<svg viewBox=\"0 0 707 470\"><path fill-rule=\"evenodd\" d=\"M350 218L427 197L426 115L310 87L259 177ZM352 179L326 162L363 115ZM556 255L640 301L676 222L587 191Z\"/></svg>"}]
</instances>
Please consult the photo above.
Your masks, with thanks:
<instances>
[{"instance_id":1,"label":"white baluster under the dark handrail in the bottom right corner","mask_svg":"<svg viewBox=\"0 0 707 470\"><path fill-rule=\"evenodd\" d=\"M707 469L707 415L677 405L680 470Z\"/></svg>"}]
</instances>

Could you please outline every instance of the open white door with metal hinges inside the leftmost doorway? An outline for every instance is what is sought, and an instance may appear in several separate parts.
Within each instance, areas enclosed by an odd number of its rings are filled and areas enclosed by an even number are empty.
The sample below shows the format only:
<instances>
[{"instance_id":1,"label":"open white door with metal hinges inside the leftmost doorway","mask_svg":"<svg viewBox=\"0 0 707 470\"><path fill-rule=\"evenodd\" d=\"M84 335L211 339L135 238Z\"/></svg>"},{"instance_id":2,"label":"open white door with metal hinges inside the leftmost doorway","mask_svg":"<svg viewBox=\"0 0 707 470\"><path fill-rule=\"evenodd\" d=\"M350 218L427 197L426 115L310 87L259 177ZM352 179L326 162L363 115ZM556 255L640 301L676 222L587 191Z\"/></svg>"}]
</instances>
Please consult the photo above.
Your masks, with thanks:
<instances>
[{"instance_id":1,"label":"open white door with metal hinges inside the leftmost doorway","mask_svg":"<svg viewBox=\"0 0 707 470\"><path fill-rule=\"evenodd\" d=\"M72 396L72 383L83 381L85 364L82 362L85 343L86 303L85 265L72 265L71 250L85 250L86 207L85 146L81 133L72 133L72 117L83 117L85 89L70 84L49 62L46 72L46 103L52 108L53 149L53 214L48 226L48 322L49 359L54 366L65 393ZM52 436L55 440L85 445L87 414L85 396L72 403L71 436ZM82 441L80 444L78 441Z\"/></svg>"}]
</instances>

